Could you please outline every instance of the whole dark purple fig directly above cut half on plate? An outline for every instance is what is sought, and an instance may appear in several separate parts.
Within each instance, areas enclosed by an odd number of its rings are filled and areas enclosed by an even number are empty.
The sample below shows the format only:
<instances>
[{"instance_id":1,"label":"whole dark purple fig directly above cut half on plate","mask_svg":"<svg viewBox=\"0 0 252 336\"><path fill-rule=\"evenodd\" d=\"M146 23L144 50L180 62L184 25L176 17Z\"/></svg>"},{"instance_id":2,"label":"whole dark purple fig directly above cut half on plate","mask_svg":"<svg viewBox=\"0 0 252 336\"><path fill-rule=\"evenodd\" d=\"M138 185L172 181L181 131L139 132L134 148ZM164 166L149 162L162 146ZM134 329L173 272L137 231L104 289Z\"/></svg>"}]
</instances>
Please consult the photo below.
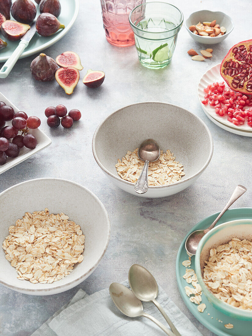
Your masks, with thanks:
<instances>
[{"instance_id":1,"label":"whole dark purple fig directly above cut half on plate","mask_svg":"<svg viewBox=\"0 0 252 336\"><path fill-rule=\"evenodd\" d=\"M31 0L16 0L11 6L11 15L17 22L29 24L33 22L37 9Z\"/></svg>"}]
</instances>

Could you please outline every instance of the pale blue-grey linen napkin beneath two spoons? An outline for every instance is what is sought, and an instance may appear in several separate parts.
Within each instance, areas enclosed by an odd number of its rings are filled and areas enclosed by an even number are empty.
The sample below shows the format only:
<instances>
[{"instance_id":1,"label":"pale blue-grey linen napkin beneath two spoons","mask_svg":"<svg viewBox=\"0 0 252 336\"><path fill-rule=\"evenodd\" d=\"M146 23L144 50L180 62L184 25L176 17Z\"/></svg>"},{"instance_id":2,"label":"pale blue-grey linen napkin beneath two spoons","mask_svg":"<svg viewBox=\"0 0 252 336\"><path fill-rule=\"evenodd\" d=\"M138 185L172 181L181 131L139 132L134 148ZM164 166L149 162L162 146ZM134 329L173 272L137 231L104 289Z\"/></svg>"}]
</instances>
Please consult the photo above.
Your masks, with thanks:
<instances>
[{"instance_id":1,"label":"pale blue-grey linen napkin beneath two spoons","mask_svg":"<svg viewBox=\"0 0 252 336\"><path fill-rule=\"evenodd\" d=\"M129 288L128 281L122 283ZM159 287L157 301L182 336L202 336L181 310ZM152 302L142 302L143 310L169 328ZM164 336L165 333L147 318L128 318L112 301L109 289L88 295L80 289L72 300L59 309L32 336Z\"/></svg>"}]
</instances>

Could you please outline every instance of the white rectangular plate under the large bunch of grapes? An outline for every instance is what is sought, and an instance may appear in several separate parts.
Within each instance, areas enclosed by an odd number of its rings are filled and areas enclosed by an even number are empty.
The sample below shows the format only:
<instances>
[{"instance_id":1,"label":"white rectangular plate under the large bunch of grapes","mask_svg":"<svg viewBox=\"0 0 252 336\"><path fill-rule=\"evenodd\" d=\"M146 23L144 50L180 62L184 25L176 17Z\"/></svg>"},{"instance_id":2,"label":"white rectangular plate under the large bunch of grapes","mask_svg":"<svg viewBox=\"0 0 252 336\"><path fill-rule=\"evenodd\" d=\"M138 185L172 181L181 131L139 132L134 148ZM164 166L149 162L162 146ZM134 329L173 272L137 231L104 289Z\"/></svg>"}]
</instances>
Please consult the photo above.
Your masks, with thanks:
<instances>
[{"instance_id":1,"label":"white rectangular plate under the large bunch of grapes","mask_svg":"<svg viewBox=\"0 0 252 336\"><path fill-rule=\"evenodd\" d=\"M11 106L14 109L15 113L20 111L1 92L0 92L0 100L5 102L6 105ZM8 125L11 125L11 121L6 122L5 126L8 126ZM45 133L43 133L39 128L31 129L29 133L36 136L38 140L37 147L34 149L23 147L20 149L20 153L17 158L7 158L7 162L4 165L0 165L0 174L16 166L17 164L25 161L26 159L30 158L34 154L42 151L43 149L45 149L52 143L52 140L48 138L48 136L45 135ZM21 133L19 132L18 134L21 134Z\"/></svg>"}]
</instances>

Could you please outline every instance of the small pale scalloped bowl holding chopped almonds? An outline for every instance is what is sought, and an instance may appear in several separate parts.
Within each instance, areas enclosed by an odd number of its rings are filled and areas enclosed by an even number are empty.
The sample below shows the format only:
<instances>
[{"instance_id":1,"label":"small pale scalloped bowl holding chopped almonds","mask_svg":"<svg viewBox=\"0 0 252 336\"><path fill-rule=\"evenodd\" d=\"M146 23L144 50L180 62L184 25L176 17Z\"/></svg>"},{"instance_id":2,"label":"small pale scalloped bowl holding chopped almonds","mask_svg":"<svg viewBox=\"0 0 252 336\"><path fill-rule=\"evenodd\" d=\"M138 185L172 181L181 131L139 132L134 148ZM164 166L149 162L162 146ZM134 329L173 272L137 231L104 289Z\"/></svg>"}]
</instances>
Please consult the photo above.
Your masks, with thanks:
<instances>
[{"instance_id":1,"label":"small pale scalloped bowl holding chopped almonds","mask_svg":"<svg viewBox=\"0 0 252 336\"><path fill-rule=\"evenodd\" d=\"M203 23L203 21L212 22L216 20L216 24L220 27L225 27L226 32L224 35L219 37L210 37L210 36L200 36L196 35L189 29L190 26L197 25L198 22ZM223 12L212 12L211 10L199 10L198 12L192 13L188 19L185 21L185 28L187 29L190 36L197 42L203 44L216 44L220 43L232 32L234 29L234 23L230 16L226 15Z\"/></svg>"}]
</instances>

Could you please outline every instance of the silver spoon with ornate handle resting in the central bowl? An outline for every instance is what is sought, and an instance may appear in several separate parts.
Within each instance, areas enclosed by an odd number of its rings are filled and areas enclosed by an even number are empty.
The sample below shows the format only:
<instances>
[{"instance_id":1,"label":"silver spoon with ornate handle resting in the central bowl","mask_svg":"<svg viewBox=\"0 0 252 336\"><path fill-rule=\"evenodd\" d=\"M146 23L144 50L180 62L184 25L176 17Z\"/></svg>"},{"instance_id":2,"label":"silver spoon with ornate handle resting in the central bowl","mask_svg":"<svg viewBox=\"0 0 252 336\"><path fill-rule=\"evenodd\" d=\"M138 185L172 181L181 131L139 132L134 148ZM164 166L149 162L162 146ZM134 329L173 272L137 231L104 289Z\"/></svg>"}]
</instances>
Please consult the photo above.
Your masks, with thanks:
<instances>
[{"instance_id":1,"label":"silver spoon with ornate handle resting in the central bowl","mask_svg":"<svg viewBox=\"0 0 252 336\"><path fill-rule=\"evenodd\" d=\"M144 162L144 166L135 184L135 192L138 194L146 193L148 190L148 167L150 162L157 161L160 157L160 148L153 139L143 141L137 151L139 159Z\"/></svg>"}]
</instances>

